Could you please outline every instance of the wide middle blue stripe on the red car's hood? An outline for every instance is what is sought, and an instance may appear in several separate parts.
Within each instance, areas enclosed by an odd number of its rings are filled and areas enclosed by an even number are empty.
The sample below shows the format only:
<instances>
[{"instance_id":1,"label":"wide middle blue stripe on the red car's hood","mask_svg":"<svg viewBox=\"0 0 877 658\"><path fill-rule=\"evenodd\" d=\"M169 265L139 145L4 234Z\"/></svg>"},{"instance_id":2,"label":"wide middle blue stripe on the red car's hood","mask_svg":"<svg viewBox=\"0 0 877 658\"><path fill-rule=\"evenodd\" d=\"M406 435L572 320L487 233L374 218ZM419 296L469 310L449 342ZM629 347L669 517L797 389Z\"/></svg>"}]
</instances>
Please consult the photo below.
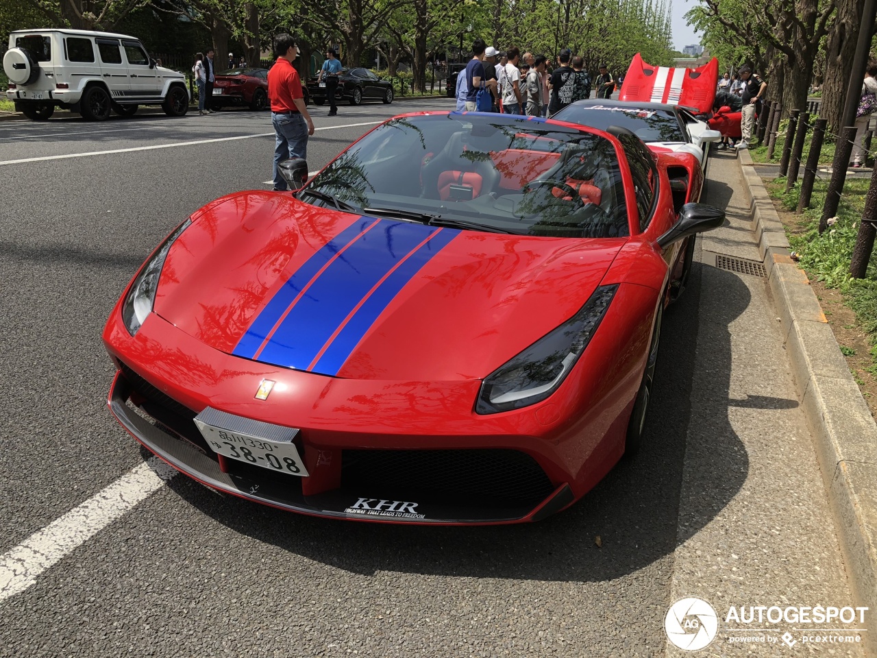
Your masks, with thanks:
<instances>
[{"instance_id":1,"label":"wide middle blue stripe on the red car's hood","mask_svg":"<svg viewBox=\"0 0 877 658\"><path fill-rule=\"evenodd\" d=\"M368 291L435 231L421 224L381 220L325 269L256 358L307 369Z\"/></svg>"}]
</instances>

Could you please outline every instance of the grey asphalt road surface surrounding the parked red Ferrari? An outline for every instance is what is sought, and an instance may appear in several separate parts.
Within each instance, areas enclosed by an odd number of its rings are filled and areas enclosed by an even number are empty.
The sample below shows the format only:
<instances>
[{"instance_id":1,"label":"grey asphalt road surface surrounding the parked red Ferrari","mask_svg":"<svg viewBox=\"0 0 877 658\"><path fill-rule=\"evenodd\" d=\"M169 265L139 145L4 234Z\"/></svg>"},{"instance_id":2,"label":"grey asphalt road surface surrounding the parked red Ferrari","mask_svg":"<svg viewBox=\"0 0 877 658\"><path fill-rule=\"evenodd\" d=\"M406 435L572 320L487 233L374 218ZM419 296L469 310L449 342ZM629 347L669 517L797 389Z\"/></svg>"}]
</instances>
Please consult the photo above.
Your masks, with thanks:
<instances>
[{"instance_id":1,"label":"grey asphalt road surface surrounding the parked red Ferrari","mask_svg":"<svg viewBox=\"0 0 877 658\"><path fill-rule=\"evenodd\" d=\"M310 169L393 113L451 104L317 108ZM0 124L0 567L143 469L148 454L105 409L103 323L189 213L267 188L271 132L249 111ZM664 618L681 597L722 621L730 605L851 605L766 282L710 264L753 257L730 158L710 165L704 200L731 224L699 240L665 316L645 447L572 509L531 526L369 525L177 476L81 542L35 551L60 553L20 593L0 591L0 656L651 657L678 653ZM704 654L787 651L731 643L729 628Z\"/></svg>"}]
</instances>

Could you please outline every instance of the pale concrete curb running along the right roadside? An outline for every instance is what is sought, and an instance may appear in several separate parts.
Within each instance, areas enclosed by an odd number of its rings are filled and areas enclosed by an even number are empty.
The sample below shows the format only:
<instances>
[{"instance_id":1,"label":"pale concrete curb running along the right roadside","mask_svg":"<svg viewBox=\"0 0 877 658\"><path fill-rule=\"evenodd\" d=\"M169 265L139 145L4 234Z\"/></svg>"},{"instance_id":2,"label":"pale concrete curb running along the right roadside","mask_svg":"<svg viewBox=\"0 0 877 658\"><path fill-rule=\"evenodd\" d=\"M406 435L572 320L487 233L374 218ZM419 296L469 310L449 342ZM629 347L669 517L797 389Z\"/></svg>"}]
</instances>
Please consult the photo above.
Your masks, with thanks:
<instances>
[{"instance_id":1,"label":"pale concrete curb running along the right roadside","mask_svg":"<svg viewBox=\"0 0 877 658\"><path fill-rule=\"evenodd\" d=\"M870 609L871 632L863 640L869 654L877 655L877 425L807 275L789 257L785 229L752 158L746 151L738 157L798 396L816 439L852 596L855 604Z\"/></svg>"}]
</instances>

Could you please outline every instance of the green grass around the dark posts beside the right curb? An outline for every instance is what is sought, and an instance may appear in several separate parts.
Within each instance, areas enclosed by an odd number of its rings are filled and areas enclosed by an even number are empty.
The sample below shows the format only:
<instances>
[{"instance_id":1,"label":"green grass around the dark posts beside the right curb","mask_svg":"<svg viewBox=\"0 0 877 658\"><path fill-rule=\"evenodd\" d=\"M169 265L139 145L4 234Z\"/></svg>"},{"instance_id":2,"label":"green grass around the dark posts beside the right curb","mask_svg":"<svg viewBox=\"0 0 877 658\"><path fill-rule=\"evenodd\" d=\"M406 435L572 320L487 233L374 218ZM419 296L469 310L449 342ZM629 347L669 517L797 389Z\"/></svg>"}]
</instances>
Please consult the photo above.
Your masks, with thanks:
<instances>
[{"instance_id":1,"label":"green grass around the dark posts beside the right curb","mask_svg":"<svg viewBox=\"0 0 877 658\"><path fill-rule=\"evenodd\" d=\"M807 273L828 288L840 290L844 304L856 314L856 319L868 341L873 346L870 353L873 366L869 371L877 375L877 265L873 258L868 263L864 279L852 279L850 260L852 248L859 231L865 197L870 186L866 179L847 179L844 194L838 206L838 221L822 235L819 234L819 218L825 202L825 188L828 182L817 180L813 188L811 208L802 213L801 231L788 232L788 241L793 251L801 258L802 267ZM785 179L766 182L770 195L779 200L783 207L795 210L801 184L798 183L788 193Z\"/></svg>"}]
</instances>

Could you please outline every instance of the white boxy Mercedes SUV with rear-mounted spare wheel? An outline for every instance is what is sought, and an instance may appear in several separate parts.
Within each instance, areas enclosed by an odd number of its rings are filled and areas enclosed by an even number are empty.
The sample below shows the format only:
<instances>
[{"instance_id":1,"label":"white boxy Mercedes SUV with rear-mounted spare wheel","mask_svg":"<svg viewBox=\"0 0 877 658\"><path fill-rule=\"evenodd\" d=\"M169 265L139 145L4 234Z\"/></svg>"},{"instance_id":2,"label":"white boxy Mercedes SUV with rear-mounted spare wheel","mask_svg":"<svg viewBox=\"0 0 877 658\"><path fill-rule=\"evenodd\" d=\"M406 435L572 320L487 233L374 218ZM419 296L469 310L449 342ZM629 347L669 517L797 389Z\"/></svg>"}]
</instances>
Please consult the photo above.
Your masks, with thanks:
<instances>
[{"instance_id":1,"label":"white boxy Mercedes SUV with rear-mounted spare wheel","mask_svg":"<svg viewBox=\"0 0 877 658\"><path fill-rule=\"evenodd\" d=\"M34 121L55 107L91 121L110 112L131 116L138 105L161 105L166 114L189 111L182 73L156 66L139 39L85 30L18 30L3 58L6 97Z\"/></svg>"}]
</instances>

